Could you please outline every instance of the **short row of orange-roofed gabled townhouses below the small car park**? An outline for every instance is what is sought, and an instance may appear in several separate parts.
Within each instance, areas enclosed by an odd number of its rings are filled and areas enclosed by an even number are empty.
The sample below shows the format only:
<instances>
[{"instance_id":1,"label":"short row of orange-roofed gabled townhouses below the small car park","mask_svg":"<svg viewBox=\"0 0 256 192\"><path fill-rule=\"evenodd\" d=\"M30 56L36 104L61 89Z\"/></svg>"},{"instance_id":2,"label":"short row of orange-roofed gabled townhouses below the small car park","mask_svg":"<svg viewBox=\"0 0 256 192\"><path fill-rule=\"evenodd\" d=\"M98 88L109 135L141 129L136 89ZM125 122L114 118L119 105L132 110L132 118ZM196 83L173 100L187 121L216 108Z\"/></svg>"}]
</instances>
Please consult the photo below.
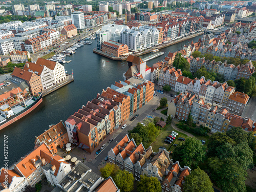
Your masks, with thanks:
<instances>
[{"instance_id":1,"label":"short row of orange-roofed gabled townhouses below the small car park","mask_svg":"<svg viewBox=\"0 0 256 192\"><path fill-rule=\"evenodd\" d=\"M187 166L182 168L178 161L170 160L166 150L159 148L158 152L153 152L151 146L145 149L142 143L136 145L128 135L111 148L108 156L110 163L132 173L136 181L140 181L141 175L156 177L163 192L181 192L191 171Z\"/></svg>"}]
</instances>

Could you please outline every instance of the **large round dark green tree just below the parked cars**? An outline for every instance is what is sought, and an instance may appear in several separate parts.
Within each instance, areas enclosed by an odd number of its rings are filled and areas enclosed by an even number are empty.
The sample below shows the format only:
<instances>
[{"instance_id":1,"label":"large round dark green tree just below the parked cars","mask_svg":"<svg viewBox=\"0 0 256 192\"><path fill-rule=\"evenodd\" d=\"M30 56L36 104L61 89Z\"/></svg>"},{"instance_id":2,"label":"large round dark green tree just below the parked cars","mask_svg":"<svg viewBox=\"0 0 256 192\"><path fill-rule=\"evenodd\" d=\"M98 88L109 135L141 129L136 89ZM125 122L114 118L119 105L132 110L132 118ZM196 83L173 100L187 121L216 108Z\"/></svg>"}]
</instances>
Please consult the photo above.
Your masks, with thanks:
<instances>
[{"instance_id":1,"label":"large round dark green tree just below the parked cars","mask_svg":"<svg viewBox=\"0 0 256 192\"><path fill-rule=\"evenodd\" d=\"M206 146L195 137L188 137L184 142L179 142L173 151L173 161L179 161L181 166L197 167L206 155Z\"/></svg>"}]
</instances>

